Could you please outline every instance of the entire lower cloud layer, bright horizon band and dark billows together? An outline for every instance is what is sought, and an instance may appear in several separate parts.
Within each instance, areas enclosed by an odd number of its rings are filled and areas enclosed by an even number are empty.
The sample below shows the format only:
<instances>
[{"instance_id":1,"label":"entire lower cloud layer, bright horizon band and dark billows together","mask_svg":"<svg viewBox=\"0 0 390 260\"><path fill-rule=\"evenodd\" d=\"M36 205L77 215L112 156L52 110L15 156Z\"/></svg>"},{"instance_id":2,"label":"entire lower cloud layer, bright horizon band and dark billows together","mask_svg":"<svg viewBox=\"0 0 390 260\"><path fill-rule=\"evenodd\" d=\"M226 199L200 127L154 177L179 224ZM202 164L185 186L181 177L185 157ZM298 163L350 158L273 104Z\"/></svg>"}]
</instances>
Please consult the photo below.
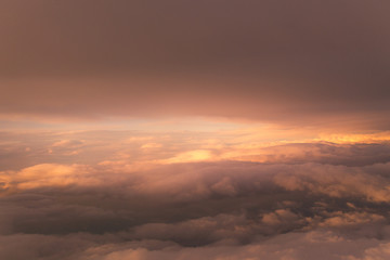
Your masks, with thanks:
<instances>
[{"instance_id":1,"label":"entire lower cloud layer, bright horizon band and dark billows together","mask_svg":"<svg viewBox=\"0 0 390 260\"><path fill-rule=\"evenodd\" d=\"M388 255L387 141L245 147L245 142L236 146L233 134L230 144L221 139L222 145L206 148L212 133L26 134L8 134L3 147L15 144L26 153L28 146L37 159L54 161L0 171L0 258L361 260ZM16 138L22 141L13 142ZM161 147L142 148L157 141ZM47 153L80 145L80 156L100 158L63 164L55 161L63 155ZM214 158L151 162L194 151ZM253 153L258 161L245 161L244 155L216 159L231 151ZM148 167L131 164L138 160Z\"/></svg>"}]
</instances>

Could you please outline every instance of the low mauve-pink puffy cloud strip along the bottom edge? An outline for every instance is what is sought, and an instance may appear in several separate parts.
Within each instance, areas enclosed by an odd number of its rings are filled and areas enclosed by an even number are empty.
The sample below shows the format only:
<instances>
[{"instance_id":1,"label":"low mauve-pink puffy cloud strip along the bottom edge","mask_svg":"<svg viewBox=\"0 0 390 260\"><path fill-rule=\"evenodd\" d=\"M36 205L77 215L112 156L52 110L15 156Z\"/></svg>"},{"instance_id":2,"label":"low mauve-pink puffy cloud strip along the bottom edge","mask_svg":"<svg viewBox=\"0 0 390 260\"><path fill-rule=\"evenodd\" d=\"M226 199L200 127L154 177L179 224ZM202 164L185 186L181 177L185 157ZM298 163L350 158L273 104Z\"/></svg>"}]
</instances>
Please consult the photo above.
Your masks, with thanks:
<instances>
[{"instance_id":1,"label":"low mauve-pink puffy cloud strip along the bottom edge","mask_svg":"<svg viewBox=\"0 0 390 260\"><path fill-rule=\"evenodd\" d=\"M376 239L351 240L348 237L340 236L333 232L308 232L282 234L265 242L256 242L245 246L236 245L214 245L208 247L180 247L172 243L158 243L156 240L127 242L122 244L107 244L99 246L99 238L94 242L88 242L91 237L79 235L74 237L44 237L37 235L15 235L12 240L6 240L10 249L15 248L16 242L28 246L31 249L40 248L40 255L17 252L20 258L29 257L29 259L53 259L50 256L49 248L39 247L37 242L51 242L51 245L62 243L63 248L56 250L54 258L57 259L336 259L336 260L368 260L386 259L389 256L388 243ZM93 240L93 239L92 239ZM78 244L77 244L78 243ZM38 245L37 245L38 244ZM66 251L77 248L76 253ZM11 250L10 250L11 251ZM27 252L27 253L26 253ZM2 256L15 256L5 255ZM375 258L376 257L376 258Z\"/></svg>"}]
</instances>

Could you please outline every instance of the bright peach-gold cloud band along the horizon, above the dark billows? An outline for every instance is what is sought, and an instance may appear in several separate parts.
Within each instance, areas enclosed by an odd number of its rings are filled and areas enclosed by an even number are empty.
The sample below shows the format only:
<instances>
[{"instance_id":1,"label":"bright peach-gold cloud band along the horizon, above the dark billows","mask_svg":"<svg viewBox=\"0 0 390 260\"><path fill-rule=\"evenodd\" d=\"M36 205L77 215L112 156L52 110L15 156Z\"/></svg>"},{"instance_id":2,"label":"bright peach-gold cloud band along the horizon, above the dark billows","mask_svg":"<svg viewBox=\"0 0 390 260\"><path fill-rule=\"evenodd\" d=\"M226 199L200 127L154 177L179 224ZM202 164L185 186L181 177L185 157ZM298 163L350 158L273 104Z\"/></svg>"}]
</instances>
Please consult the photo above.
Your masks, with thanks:
<instances>
[{"instance_id":1,"label":"bright peach-gold cloud band along the horizon, above the dark billows","mask_svg":"<svg viewBox=\"0 0 390 260\"><path fill-rule=\"evenodd\" d=\"M216 123L216 129L209 131L3 131L0 133L4 140L0 143L0 170L17 171L40 164L101 164L121 167L118 170L128 166L131 170L204 160L341 166L368 166L390 160L387 132L360 134L353 139L348 134L329 138L278 127L219 131L219 126ZM346 143L344 140L350 141Z\"/></svg>"}]
</instances>

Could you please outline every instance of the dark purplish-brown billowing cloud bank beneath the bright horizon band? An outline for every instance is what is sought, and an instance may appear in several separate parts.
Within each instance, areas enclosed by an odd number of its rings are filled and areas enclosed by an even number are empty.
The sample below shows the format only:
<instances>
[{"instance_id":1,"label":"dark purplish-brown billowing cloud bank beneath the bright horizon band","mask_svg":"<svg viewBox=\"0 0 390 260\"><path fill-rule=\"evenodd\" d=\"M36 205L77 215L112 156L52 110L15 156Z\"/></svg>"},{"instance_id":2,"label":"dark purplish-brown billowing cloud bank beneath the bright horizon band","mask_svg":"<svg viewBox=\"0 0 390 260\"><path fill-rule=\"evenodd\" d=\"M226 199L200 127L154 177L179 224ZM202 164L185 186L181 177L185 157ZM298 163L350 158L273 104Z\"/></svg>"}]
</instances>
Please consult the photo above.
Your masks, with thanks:
<instances>
[{"instance_id":1,"label":"dark purplish-brown billowing cloud bank beneath the bright horizon band","mask_svg":"<svg viewBox=\"0 0 390 260\"><path fill-rule=\"evenodd\" d=\"M316 251L309 245L339 259L386 256L388 171L389 164L231 161L119 172L37 165L1 173L0 231L10 245L1 256L213 259L227 250L233 259L308 259ZM12 253L22 247L28 250Z\"/></svg>"}]
</instances>

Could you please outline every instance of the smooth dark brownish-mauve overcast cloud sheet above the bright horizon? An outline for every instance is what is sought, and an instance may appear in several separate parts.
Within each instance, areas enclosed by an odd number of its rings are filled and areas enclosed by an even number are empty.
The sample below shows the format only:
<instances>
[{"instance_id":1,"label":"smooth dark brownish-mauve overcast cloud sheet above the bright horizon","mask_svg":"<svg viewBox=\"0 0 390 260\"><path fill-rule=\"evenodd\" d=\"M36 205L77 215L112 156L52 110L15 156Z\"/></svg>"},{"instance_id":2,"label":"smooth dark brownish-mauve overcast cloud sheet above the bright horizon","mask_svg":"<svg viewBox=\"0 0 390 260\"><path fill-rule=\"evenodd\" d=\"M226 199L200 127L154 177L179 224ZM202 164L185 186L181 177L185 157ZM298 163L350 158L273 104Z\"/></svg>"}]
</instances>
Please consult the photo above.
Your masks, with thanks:
<instances>
[{"instance_id":1,"label":"smooth dark brownish-mauve overcast cloud sheet above the bright horizon","mask_svg":"<svg viewBox=\"0 0 390 260\"><path fill-rule=\"evenodd\" d=\"M387 129L385 1L2 1L5 115Z\"/></svg>"}]
</instances>

